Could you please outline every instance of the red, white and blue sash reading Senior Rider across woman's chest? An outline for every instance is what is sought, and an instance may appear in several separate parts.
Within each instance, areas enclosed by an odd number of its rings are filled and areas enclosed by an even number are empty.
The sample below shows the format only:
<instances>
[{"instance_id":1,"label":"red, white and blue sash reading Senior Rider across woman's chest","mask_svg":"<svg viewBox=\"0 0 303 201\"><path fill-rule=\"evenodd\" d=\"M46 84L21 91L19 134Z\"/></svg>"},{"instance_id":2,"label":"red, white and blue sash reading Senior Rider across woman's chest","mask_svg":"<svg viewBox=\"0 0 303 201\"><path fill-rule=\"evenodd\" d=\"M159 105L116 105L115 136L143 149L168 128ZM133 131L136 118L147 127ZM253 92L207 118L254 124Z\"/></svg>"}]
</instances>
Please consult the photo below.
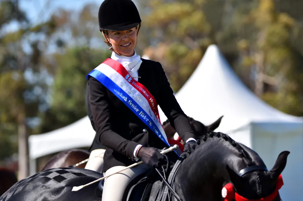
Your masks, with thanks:
<instances>
[{"instance_id":1,"label":"red, white and blue sash reading Senior Rider across woman's chest","mask_svg":"<svg viewBox=\"0 0 303 201\"><path fill-rule=\"evenodd\" d=\"M122 64L108 58L88 75L115 94L168 147L170 146L160 121L155 98L145 86L129 75Z\"/></svg>"}]
</instances>

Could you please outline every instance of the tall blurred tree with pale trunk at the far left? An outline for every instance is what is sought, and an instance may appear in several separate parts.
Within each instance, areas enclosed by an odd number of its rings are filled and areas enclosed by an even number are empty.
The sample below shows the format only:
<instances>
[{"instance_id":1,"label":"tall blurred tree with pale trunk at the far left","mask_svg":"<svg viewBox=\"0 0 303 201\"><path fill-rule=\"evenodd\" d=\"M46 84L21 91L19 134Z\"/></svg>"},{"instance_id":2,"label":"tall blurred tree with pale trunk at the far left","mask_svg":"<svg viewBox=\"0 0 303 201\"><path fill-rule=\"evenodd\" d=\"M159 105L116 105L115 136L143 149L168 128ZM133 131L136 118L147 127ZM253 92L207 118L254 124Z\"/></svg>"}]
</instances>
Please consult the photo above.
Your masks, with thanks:
<instances>
[{"instance_id":1,"label":"tall blurred tree with pale trunk at the far left","mask_svg":"<svg viewBox=\"0 0 303 201\"><path fill-rule=\"evenodd\" d=\"M22 179L28 176L28 134L39 106L45 103L47 91L43 76L47 69L42 65L41 57L56 24L51 17L47 22L30 25L19 10L17 0L1 2L0 19L0 114L4 124L1 136L9 133L8 125L16 128L12 132L18 133L18 177ZM19 29L5 33L3 25L16 20Z\"/></svg>"}]
</instances>

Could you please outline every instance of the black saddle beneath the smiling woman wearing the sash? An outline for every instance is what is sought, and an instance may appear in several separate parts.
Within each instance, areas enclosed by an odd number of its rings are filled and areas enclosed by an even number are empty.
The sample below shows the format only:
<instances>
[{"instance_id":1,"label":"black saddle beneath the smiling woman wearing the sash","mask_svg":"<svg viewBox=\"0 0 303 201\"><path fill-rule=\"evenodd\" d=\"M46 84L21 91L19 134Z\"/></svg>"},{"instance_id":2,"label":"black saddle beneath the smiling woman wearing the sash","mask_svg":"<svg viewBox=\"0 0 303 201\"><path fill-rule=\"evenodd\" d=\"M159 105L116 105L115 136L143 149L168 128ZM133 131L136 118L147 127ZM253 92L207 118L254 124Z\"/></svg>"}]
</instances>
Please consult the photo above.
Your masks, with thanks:
<instances>
[{"instance_id":1,"label":"black saddle beneath the smiling woman wearing the sash","mask_svg":"<svg viewBox=\"0 0 303 201\"><path fill-rule=\"evenodd\" d=\"M175 190L175 176L178 169L185 159L187 153L182 153L176 163L163 166L165 170L162 172L164 178L167 179L168 184ZM167 177L168 176L168 177ZM104 181L100 181L96 195L102 197ZM163 178L159 175L157 170L151 169L148 172L136 177L132 183L128 185L125 191L123 201L167 201L177 200L171 193L168 186L163 181Z\"/></svg>"}]
</instances>

